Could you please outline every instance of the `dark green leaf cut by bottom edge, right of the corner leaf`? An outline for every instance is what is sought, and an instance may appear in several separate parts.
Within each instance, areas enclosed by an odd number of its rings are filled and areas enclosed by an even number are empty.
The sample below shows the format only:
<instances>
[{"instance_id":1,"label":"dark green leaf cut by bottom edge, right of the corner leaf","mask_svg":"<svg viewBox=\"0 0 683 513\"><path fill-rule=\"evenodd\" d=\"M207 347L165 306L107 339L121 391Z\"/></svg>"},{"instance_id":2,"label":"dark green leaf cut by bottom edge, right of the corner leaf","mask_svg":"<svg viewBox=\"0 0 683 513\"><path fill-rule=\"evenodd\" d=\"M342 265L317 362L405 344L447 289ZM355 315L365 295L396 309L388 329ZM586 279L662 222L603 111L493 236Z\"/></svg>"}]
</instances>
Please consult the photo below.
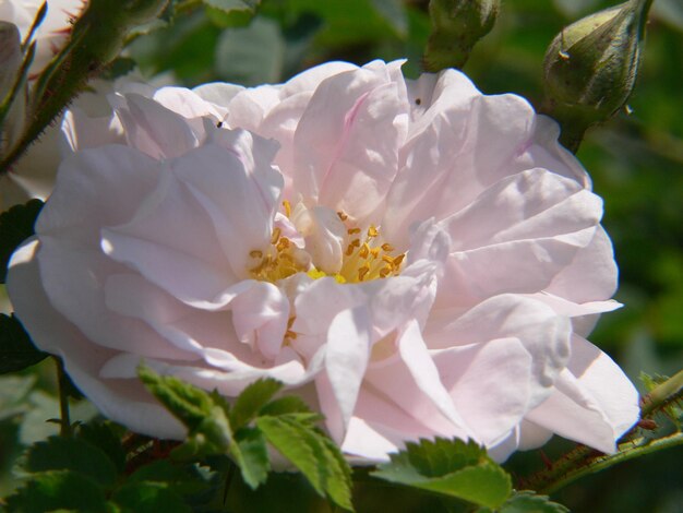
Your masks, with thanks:
<instances>
[{"instance_id":1,"label":"dark green leaf cut by bottom edge, right of the corner leaf","mask_svg":"<svg viewBox=\"0 0 683 513\"><path fill-rule=\"evenodd\" d=\"M163 482L127 482L119 488L112 501L125 511L135 513L189 513L192 510L182 498Z\"/></svg>"}]
</instances>

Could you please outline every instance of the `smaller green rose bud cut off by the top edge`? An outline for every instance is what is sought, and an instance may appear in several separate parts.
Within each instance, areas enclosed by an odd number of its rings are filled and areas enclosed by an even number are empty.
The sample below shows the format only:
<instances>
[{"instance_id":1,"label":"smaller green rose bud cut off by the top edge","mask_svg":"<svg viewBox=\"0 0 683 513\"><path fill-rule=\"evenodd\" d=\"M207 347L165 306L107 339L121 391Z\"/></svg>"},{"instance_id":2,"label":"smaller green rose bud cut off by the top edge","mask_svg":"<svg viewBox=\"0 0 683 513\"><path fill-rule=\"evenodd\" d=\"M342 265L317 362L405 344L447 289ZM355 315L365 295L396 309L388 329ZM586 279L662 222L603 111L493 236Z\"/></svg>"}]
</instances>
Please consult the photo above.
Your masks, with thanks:
<instances>
[{"instance_id":1,"label":"smaller green rose bud cut off by the top edge","mask_svg":"<svg viewBox=\"0 0 683 513\"><path fill-rule=\"evenodd\" d=\"M431 0L432 34L422 65L438 72L463 68L475 44L486 36L498 17L500 0Z\"/></svg>"}]
</instances>

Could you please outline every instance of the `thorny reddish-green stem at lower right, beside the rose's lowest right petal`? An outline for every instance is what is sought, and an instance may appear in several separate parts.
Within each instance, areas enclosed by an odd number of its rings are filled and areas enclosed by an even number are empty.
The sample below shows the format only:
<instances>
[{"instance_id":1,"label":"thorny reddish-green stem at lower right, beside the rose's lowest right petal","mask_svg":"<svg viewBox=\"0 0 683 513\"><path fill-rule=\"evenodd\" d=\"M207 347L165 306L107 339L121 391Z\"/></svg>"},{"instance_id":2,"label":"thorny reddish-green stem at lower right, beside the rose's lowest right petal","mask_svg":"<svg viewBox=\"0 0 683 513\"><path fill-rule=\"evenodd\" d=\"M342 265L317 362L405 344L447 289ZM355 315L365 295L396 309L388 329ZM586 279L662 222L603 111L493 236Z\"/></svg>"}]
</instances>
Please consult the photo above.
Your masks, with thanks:
<instances>
[{"instance_id":1,"label":"thorny reddish-green stem at lower right, beside the rose's lowest right petal","mask_svg":"<svg viewBox=\"0 0 683 513\"><path fill-rule=\"evenodd\" d=\"M683 370L652 389L640 399L640 418L652 417L671 402L676 401L683 393ZM541 470L523 482L520 488L529 488L538 493L553 493L571 482L589 474L603 470L618 463L644 456L662 449L683 444L683 432L651 439L650 437L636 437L638 425L636 423L622 440L615 454L602 454L586 445L578 445L574 450L552 462L549 469Z\"/></svg>"}]
</instances>

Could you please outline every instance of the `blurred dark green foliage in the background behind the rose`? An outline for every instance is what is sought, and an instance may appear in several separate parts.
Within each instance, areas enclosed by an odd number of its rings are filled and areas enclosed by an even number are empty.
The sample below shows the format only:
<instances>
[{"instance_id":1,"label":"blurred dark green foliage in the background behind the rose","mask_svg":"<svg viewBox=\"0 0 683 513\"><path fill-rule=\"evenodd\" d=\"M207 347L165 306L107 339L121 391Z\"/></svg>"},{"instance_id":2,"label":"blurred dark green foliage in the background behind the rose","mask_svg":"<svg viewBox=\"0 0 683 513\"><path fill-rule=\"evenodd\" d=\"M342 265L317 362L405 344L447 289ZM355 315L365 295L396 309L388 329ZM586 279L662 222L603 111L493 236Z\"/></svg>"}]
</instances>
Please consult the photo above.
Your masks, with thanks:
<instances>
[{"instance_id":1,"label":"blurred dark green foliage in the background behind the rose","mask_svg":"<svg viewBox=\"0 0 683 513\"><path fill-rule=\"evenodd\" d=\"M206 3L225 1L233 0ZM136 37L128 53L145 76L187 86L281 82L334 59L363 64L407 58L404 70L415 76L430 29L427 4L263 0L250 20L190 2L170 26ZM476 47L465 71L487 94L514 92L538 106L548 44L563 26L613 4L506 0L495 28ZM616 299L625 305L600 321L591 341L639 385L640 371L670 374L683 368L683 0L655 1L628 105L631 114L588 132L578 157L604 199L603 224L621 270ZM52 363L44 362L25 377L0 378L0 465L5 476L21 442L53 429L43 422L46 415L57 416L51 373ZM32 387L36 377L37 389ZM81 409L76 417L94 415L86 405ZM546 452L552 456L568 446L558 441ZM683 448L650 455L580 480L555 499L576 512L683 512L682 462ZM538 451L510 462L519 473L541 465ZM1 476L0 497L11 486Z\"/></svg>"}]
</instances>

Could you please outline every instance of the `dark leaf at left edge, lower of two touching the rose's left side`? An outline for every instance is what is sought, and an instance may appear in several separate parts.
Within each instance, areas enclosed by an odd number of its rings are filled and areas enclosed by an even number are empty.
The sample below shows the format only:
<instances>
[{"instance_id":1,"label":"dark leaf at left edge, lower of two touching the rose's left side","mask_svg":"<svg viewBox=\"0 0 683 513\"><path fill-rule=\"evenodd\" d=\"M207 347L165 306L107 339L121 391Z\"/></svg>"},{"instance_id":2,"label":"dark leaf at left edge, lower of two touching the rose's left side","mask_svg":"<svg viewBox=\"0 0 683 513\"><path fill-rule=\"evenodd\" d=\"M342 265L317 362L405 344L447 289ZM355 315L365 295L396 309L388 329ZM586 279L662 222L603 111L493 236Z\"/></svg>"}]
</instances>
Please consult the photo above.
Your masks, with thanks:
<instances>
[{"instance_id":1,"label":"dark leaf at left edge, lower of two touching the rose's left side","mask_svg":"<svg viewBox=\"0 0 683 513\"><path fill-rule=\"evenodd\" d=\"M28 333L14 317L0 314L0 374L19 372L47 358L33 345Z\"/></svg>"}]
</instances>

